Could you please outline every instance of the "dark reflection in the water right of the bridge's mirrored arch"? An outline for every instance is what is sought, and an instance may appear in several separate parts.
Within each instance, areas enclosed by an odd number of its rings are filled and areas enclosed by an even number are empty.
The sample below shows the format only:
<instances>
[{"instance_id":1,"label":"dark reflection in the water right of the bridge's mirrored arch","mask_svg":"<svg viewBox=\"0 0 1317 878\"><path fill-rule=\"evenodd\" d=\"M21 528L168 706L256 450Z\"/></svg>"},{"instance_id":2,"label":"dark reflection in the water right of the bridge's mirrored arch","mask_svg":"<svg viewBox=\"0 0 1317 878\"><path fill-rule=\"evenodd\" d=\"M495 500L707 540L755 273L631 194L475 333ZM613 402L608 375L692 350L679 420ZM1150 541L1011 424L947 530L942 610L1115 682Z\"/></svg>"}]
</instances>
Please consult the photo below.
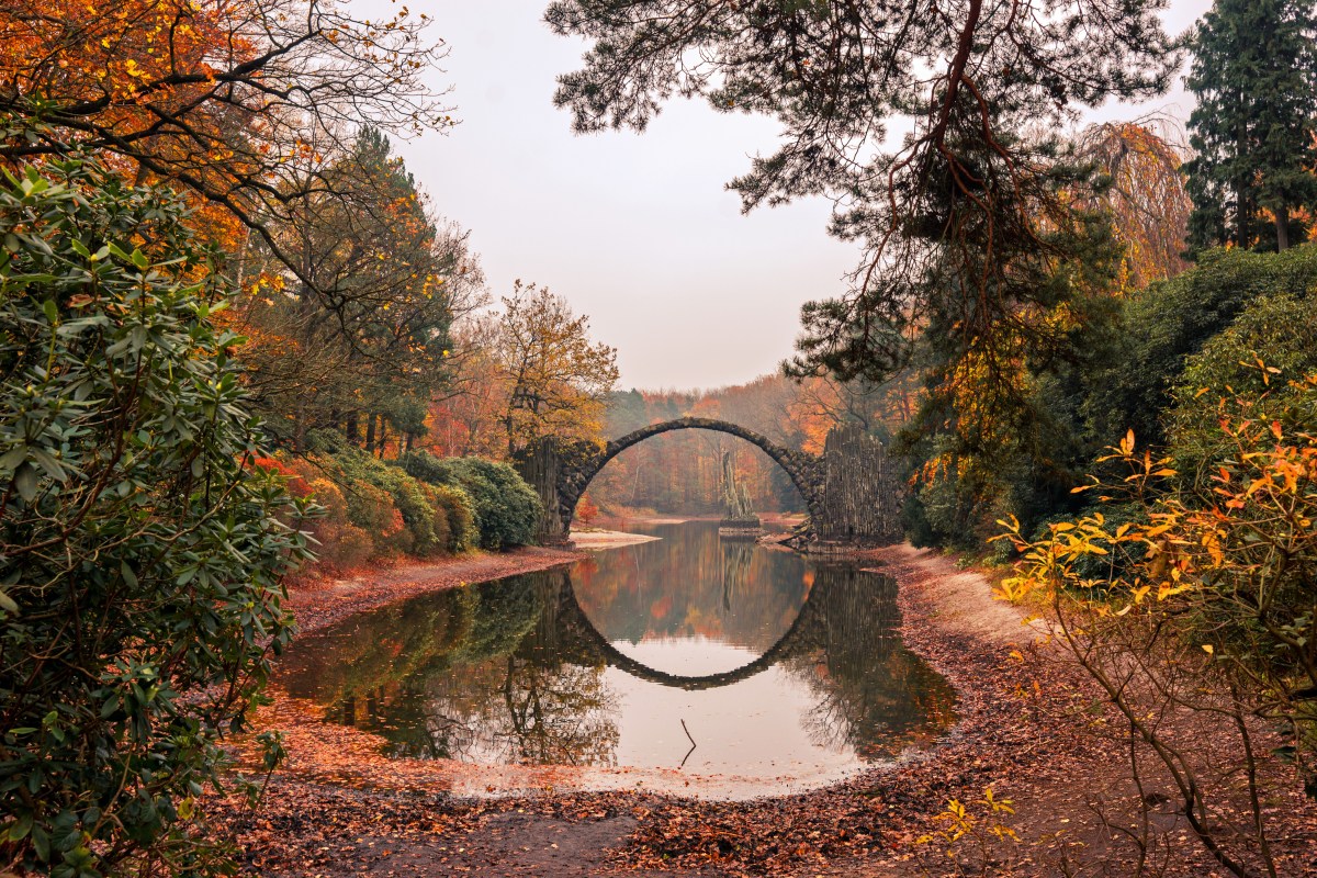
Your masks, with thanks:
<instances>
[{"instance_id":1,"label":"dark reflection in the water right of the bridge's mirrored arch","mask_svg":"<svg viewBox=\"0 0 1317 878\"><path fill-rule=\"evenodd\" d=\"M901 642L896 596L890 577L844 566L815 571L815 620L788 667L817 698L806 720L817 745L890 757L955 721L951 686Z\"/></svg>"}]
</instances>

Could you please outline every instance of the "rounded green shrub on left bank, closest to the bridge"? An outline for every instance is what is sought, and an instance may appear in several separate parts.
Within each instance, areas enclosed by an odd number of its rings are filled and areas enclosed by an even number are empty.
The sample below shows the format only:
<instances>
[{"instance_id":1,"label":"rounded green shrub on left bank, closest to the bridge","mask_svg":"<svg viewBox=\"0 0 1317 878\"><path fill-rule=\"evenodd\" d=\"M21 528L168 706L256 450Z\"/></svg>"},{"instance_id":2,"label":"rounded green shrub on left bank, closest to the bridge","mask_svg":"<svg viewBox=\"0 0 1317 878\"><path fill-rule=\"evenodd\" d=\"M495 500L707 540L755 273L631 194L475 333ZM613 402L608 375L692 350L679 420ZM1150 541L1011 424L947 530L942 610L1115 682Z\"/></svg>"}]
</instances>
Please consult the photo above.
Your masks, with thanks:
<instances>
[{"instance_id":1,"label":"rounded green shrub on left bank, closest to the bridge","mask_svg":"<svg viewBox=\"0 0 1317 878\"><path fill-rule=\"evenodd\" d=\"M507 463L414 452L402 459L402 466L431 484L458 486L470 496L481 548L503 549L535 541L544 508L540 495Z\"/></svg>"}]
</instances>

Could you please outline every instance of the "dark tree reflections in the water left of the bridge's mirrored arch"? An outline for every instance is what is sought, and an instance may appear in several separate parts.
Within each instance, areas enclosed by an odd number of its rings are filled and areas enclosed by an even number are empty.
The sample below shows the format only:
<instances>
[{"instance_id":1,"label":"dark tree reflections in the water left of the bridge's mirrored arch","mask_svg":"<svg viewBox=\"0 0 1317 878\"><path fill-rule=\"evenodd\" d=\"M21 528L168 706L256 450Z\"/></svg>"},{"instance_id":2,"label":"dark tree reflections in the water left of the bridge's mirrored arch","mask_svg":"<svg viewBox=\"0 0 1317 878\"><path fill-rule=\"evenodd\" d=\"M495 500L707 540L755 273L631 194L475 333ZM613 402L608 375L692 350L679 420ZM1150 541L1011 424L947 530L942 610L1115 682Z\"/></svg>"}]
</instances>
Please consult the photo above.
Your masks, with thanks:
<instances>
[{"instance_id":1,"label":"dark tree reflections in the water left of the bridge's mirrored arch","mask_svg":"<svg viewBox=\"0 0 1317 878\"><path fill-rule=\"evenodd\" d=\"M557 649L566 573L425 595L309 637L282 666L294 696L329 721L389 741L392 756L611 763L615 699L602 666Z\"/></svg>"}]
</instances>

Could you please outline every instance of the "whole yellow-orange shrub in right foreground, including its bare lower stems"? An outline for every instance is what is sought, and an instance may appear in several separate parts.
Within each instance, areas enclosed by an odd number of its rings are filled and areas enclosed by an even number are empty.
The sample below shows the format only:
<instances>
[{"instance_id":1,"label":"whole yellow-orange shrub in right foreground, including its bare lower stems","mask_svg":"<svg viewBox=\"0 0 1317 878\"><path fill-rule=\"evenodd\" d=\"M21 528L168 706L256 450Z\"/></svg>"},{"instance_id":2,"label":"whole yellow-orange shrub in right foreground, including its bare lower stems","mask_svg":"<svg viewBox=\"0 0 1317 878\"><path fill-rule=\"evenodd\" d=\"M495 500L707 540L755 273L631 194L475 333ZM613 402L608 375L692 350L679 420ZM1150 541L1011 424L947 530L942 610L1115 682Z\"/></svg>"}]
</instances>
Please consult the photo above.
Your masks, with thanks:
<instances>
[{"instance_id":1,"label":"whole yellow-orange shrub in right foreground, including its bare lower stems","mask_svg":"<svg viewBox=\"0 0 1317 878\"><path fill-rule=\"evenodd\" d=\"M1138 449L1131 432L1102 458L1129 475L1076 491L1130 504L1142 512L1135 520L1094 511L1027 538L1010 519L998 537L1022 555L1002 596L1052 608L1131 741L1169 770L1192 828L1237 874L1271 858L1256 795L1258 720L1287 741L1272 753L1293 760L1317 795L1317 373L1285 382L1275 367L1255 367L1260 394L1227 391L1216 403L1195 394L1218 415L1210 437L1191 437L1214 449L1209 479L1181 478L1176 457ZM1222 837L1196 745L1159 719L1168 710L1237 735L1256 817L1246 837Z\"/></svg>"}]
</instances>

